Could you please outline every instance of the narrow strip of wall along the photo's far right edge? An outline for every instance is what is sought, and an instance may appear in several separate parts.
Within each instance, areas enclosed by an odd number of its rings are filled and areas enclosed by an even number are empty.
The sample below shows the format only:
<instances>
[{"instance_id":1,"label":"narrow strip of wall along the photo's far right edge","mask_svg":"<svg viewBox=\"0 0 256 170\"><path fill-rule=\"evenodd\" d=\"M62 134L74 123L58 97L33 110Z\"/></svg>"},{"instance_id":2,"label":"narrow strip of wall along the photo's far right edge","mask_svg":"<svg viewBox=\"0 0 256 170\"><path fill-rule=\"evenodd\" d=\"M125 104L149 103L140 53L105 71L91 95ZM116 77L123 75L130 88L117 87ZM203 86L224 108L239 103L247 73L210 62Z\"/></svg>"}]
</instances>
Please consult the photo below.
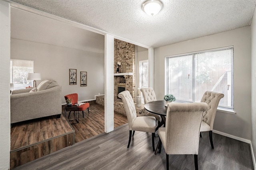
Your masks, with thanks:
<instances>
[{"instance_id":1,"label":"narrow strip of wall along the photo's far right edge","mask_svg":"<svg viewBox=\"0 0 256 170\"><path fill-rule=\"evenodd\" d=\"M252 37L252 148L253 155L256 151L256 12L252 18L251 37ZM254 159L254 158L253 158ZM254 165L255 167L255 165Z\"/></svg>"}]
</instances>

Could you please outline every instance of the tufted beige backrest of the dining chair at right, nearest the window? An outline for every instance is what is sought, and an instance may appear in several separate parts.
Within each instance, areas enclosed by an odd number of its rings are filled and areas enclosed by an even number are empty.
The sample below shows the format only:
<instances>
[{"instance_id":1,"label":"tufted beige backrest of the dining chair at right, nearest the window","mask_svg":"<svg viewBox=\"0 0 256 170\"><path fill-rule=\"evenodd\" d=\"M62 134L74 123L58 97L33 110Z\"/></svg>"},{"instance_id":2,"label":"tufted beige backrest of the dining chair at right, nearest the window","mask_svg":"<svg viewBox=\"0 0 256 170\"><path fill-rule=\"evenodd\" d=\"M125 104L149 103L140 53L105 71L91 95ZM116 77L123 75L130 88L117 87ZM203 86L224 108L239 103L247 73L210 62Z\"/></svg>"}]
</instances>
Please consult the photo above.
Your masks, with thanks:
<instances>
[{"instance_id":1,"label":"tufted beige backrest of the dining chair at right, nearest the window","mask_svg":"<svg viewBox=\"0 0 256 170\"><path fill-rule=\"evenodd\" d=\"M219 105L220 99L224 97L224 94L206 91L202 97L201 102L208 104L208 110L204 111L203 121L210 126L212 131L213 123Z\"/></svg>"}]
</instances>

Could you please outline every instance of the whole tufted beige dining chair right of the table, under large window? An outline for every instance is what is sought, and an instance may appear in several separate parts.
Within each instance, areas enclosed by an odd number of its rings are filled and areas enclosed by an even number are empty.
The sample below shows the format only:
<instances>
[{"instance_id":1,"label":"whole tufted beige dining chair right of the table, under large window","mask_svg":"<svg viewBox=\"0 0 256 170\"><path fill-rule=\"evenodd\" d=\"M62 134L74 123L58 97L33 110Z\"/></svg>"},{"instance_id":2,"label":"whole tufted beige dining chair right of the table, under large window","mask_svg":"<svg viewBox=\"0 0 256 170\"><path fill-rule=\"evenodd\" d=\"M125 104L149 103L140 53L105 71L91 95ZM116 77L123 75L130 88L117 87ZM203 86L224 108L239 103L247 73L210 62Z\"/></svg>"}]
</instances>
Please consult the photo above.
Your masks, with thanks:
<instances>
[{"instance_id":1,"label":"whole tufted beige dining chair right of the table, under large window","mask_svg":"<svg viewBox=\"0 0 256 170\"><path fill-rule=\"evenodd\" d=\"M217 111L220 99L222 99L223 97L224 97L224 94L222 93L206 91L204 92L204 95L201 99L201 102L208 104L208 110L204 112L204 117L202 120L202 126L200 129L200 132L209 131L209 138L210 138L212 149L214 149L213 141L212 141L213 123L214 123L214 119L215 119L215 115L216 115L216 111ZM201 133L200 133L200 137L202 137Z\"/></svg>"}]
</instances>

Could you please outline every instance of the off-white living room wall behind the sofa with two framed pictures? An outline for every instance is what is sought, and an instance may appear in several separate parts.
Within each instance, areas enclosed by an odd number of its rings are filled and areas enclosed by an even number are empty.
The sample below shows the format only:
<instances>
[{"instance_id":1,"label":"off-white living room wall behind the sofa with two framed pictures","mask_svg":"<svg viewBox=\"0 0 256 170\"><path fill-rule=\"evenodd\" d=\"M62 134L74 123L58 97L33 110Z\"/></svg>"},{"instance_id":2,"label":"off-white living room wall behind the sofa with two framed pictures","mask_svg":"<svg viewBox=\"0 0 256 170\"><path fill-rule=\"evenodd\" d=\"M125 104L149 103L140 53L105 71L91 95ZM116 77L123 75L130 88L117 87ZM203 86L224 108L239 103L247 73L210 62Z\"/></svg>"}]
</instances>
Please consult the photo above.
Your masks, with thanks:
<instances>
[{"instance_id":1,"label":"off-white living room wall behind the sofa with two framed pictures","mask_svg":"<svg viewBox=\"0 0 256 170\"><path fill-rule=\"evenodd\" d=\"M104 53L92 53L25 40L11 39L11 59L34 61L34 72L42 80L53 79L62 86L62 103L66 94L78 93L78 101L104 94ZM77 84L69 85L69 69L76 69ZM80 86L80 71L87 72L87 86Z\"/></svg>"}]
</instances>

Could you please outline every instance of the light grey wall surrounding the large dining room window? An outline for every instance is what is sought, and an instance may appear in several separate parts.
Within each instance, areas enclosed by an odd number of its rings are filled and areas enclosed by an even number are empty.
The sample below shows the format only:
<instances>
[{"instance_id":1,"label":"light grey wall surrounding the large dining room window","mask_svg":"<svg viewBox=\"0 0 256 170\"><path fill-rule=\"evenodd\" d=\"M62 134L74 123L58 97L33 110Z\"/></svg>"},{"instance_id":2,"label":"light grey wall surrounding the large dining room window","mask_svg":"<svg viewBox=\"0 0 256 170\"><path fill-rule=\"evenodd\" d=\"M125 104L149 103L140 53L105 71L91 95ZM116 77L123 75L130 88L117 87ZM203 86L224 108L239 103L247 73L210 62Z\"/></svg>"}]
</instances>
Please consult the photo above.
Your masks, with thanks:
<instances>
[{"instance_id":1,"label":"light grey wall surrounding the large dining room window","mask_svg":"<svg viewBox=\"0 0 256 170\"><path fill-rule=\"evenodd\" d=\"M251 139L251 41L250 26L200 37L155 49L154 90L157 100L164 96L164 57L234 46L234 110L236 114L217 111L214 130Z\"/></svg>"}]
</instances>

